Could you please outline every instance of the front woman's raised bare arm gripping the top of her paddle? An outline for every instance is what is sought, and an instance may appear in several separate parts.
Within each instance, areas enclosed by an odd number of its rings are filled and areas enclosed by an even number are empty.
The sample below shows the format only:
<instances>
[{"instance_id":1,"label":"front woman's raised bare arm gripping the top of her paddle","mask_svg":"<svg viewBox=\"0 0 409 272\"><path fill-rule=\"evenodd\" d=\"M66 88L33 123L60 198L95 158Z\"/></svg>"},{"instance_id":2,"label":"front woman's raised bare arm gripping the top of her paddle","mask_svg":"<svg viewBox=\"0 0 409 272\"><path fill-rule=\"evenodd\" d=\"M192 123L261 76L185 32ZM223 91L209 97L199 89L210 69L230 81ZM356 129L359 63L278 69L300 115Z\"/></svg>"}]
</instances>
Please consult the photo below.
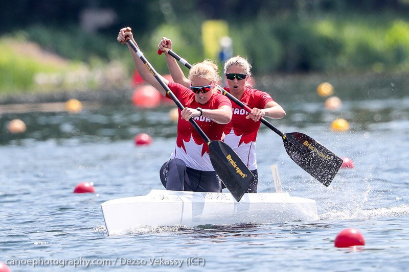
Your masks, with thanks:
<instances>
[{"instance_id":1,"label":"front woman's raised bare arm gripping the top of her paddle","mask_svg":"<svg viewBox=\"0 0 409 272\"><path fill-rule=\"evenodd\" d=\"M123 28L120 30L119 34L118 34L118 41L120 43L124 43L126 40L131 39L135 45L137 46L137 48L139 49L139 46L137 44L137 42L133 39L133 35L132 32L127 31L127 28ZM142 62L142 60L138 57L138 55L133 51L132 47L130 47L130 45L128 43L126 43L128 45L128 49L132 55L132 59L133 59L133 63L135 64L135 68L137 68L137 71L139 73L139 75L150 85L152 85L155 89L157 89L162 95L166 95L166 91L165 89L162 87L162 85L155 79L155 77L152 75L152 73L150 72L150 69L148 69L147 66L145 66L145 64ZM169 81L165 78L163 78L161 75L158 75L158 77L160 77L162 79L162 81L168 85Z\"/></svg>"}]
</instances>

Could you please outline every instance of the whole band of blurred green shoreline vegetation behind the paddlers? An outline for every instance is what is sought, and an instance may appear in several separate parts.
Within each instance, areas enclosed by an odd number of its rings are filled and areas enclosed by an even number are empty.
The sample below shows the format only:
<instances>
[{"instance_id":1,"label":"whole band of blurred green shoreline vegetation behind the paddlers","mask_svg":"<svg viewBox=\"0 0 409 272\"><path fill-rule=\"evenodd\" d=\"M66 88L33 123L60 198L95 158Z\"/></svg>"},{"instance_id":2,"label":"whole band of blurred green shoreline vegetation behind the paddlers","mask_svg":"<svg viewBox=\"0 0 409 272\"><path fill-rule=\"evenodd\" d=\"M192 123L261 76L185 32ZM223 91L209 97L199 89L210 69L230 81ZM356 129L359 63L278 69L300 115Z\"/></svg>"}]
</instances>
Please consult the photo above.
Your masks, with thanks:
<instances>
[{"instance_id":1,"label":"whole band of blurred green shoreline vegetation behind the paddlers","mask_svg":"<svg viewBox=\"0 0 409 272\"><path fill-rule=\"evenodd\" d=\"M160 39L171 38L172 49L190 63L202 61L201 23L207 19L228 21L234 55L246 56L256 76L409 71L406 0L123 2L67 0L49 7L41 0L31 7L39 15L33 10L26 21L3 24L0 93L129 88L134 67L127 47L116 41L121 27L132 27L142 52L164 74L165 59L156 54ZM80 27L81 11L95 3L117 17L89 32Z\"/></svg>"}]
</instances>

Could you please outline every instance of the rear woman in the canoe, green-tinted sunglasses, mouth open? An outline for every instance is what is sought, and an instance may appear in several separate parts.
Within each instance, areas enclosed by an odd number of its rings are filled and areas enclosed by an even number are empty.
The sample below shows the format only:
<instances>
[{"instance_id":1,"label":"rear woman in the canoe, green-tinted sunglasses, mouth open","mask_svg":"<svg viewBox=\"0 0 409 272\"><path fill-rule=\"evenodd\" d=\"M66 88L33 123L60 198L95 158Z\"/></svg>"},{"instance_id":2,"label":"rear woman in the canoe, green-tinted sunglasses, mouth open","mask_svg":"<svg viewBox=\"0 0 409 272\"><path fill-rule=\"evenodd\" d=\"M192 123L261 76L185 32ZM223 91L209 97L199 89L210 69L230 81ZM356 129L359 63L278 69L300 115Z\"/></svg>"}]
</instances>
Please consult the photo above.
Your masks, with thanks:
<instances>
[{"instance_id":1,"label":"rear woman in the canoe, green-tinted sunglasses, mouth open","mask_svg":"<svg viewBox=\"0 0 409 272\"><path fill-rule=\"evenodd\" d=\"M171 50L171 47L172 41L168 38L162 38L158 44L161 51L165 51L165 48ZM165 51L165 53L167 52ZM173 80L184 86L189 86L191 81L184 76L176 60L169 54L165 54L165 56ZM224 89L252 109L248 113L236 103L232 103L233 117L232 121L224 128L224 142L233 148L254 175L254 179L246 192L257 192L256 138L260 128L260 118L265 116L280 119L285 116L285 111L277 102L272 100L268 93L253 89L248 83L251 67L248 61L240 56L230 58L224 64L224 75L229 85Z\"/></svg>"}]
</instances>

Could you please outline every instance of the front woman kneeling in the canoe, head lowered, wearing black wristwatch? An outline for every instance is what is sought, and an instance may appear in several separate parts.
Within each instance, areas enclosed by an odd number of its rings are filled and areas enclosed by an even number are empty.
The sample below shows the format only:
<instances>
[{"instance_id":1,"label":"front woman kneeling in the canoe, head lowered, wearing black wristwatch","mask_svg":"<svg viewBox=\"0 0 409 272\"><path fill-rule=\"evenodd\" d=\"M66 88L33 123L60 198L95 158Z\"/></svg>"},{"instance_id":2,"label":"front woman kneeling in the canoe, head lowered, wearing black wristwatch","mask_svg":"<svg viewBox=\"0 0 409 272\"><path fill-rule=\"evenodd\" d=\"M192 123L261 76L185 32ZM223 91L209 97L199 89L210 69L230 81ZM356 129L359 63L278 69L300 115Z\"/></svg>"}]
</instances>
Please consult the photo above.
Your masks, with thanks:
<instances>
[{"instance_id":1,"label":"front woman kneeling in the canoe, head lowered, wearing black wristwatch","mask_svg":"<svg viewBox=\"0 0 409 272\"><path fill-rule=\"evenodd\" d=\"M117 39L120 43L131 39L138 46L128 28L121 29ZM162 95L170 98L129 44L128 47L141 77ZM210 161L208 144L189 122L193 118L210 140L220 140L225 124L232 119L232 103L216 90L219 77L215 67L214 63L208 61L195 64L189 72L191 85L188 87L158 75L185 107L183 111L179 109L174 151L160 170L162 184L167 190L221 190L220 180Z\"/></svg>"}]
</instances>

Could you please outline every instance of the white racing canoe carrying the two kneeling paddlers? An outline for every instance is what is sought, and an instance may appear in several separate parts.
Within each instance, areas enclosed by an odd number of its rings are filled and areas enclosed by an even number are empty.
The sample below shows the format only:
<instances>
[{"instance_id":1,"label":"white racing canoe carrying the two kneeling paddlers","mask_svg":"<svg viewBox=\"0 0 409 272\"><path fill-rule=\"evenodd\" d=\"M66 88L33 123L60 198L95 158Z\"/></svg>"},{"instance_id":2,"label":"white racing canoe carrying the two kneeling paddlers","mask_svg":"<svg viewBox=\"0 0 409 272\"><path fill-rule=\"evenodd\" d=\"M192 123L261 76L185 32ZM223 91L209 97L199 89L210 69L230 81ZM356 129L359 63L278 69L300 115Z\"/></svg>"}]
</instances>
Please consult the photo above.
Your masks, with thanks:
<instances>
[{"instance_id":1,"label":"white racing canoe carrying the two kneeling paddlers","mask_svg":"<svg viewBox=\"0 0 409 272\"><path fill-rule=\"evenodd\" d=\"M285 193L230 193L151 190L101 204L108 235L138 226L265 224L318 219L314 200Z\"/></svg>"}]
</instances>

